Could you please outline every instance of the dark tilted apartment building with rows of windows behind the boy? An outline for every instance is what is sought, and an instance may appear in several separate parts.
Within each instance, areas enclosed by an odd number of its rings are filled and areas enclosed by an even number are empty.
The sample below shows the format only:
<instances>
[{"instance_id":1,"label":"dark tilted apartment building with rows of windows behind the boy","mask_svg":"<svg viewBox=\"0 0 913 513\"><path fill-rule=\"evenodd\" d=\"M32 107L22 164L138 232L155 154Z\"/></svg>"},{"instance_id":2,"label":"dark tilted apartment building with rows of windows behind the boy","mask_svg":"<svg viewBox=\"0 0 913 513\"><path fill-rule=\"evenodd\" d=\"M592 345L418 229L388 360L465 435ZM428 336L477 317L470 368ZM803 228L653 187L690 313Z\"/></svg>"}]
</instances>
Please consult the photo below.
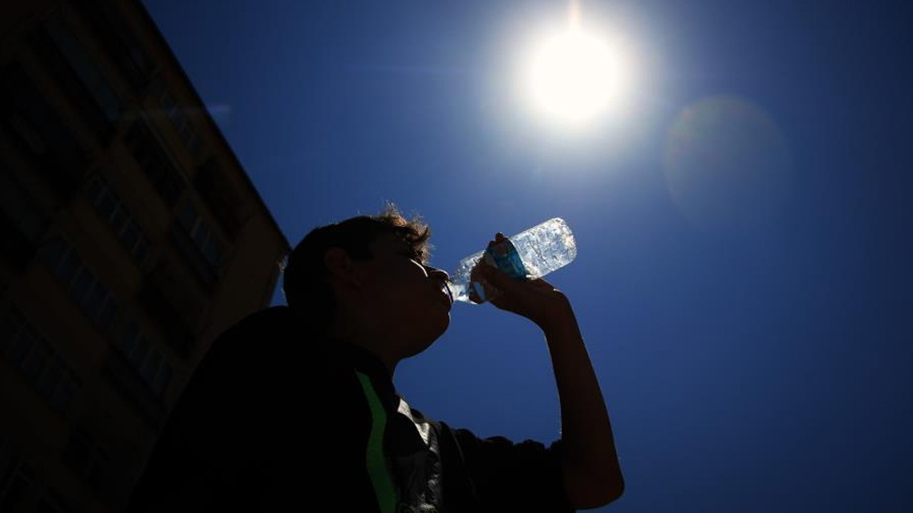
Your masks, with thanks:
<instances>
[{"instance_id":1,"label":"dark tilted apartment building with rows of windows behind the boy","mask_svg":"<svg viewBox=\"0 0 913 513\"><path fill-rule=\"evenodd\" d=\"M121 510L288 251L140 2L0 3L0 511Z\"/></svg>"}]
</instances>

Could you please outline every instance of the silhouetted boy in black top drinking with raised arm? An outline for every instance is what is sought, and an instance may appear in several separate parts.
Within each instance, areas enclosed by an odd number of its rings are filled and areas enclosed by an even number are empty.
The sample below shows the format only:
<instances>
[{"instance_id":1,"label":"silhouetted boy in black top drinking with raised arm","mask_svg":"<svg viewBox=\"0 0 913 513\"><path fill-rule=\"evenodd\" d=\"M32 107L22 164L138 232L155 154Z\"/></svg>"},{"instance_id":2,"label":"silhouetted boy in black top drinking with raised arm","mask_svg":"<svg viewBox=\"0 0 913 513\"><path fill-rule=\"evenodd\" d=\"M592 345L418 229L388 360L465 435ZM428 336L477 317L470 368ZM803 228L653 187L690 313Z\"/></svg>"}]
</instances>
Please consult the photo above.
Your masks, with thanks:
<instances>
[{"instance_id":1,"label":"silhouetted boy in black top drinking with raised arm","mask_svg":"<svg viewBox=\"0 0 913 513\"><path fill-rule=\"evenodd\" d=\"M620 497L612 427L571 303L542 279L477 268L495 307L545 335L560 440L482 439L396 393L397 363L450 321L448 277L428 265L429 237L394 205L305 236L284 270L289 306L251 314L214 341L128 511L544 512Z\"/></svg>"}]
</instances>

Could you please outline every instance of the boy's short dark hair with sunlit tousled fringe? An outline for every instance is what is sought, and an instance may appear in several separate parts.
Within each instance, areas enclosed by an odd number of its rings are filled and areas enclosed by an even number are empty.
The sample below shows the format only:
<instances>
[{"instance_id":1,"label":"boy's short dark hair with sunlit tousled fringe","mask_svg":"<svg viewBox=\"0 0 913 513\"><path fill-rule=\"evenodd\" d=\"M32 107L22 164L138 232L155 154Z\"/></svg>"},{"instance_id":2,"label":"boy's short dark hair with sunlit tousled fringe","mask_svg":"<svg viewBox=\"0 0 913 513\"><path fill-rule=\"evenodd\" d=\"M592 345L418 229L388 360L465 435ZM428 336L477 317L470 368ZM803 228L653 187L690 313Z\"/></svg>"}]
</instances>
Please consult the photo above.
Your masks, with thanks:
<instances>
[{"instance_id":1,"label":"boy's short dark hair with sunlit tousled fringe","mask_svg":"<svg viewBox=\"0 0 913 513\"><path fill-rule=\"evenodd\" d=\"M385 233L402 238L412 247L417 261L428 262L431 229L418 215L406 219L392 203L378 215L358 215L314 228L286 258L282 280L286 301L314 333L325 335L336 313L327 268L323 265L327 250L340 247L355 260L367 260L372 257L369 246Z\"/></svg>"}]
</instances>

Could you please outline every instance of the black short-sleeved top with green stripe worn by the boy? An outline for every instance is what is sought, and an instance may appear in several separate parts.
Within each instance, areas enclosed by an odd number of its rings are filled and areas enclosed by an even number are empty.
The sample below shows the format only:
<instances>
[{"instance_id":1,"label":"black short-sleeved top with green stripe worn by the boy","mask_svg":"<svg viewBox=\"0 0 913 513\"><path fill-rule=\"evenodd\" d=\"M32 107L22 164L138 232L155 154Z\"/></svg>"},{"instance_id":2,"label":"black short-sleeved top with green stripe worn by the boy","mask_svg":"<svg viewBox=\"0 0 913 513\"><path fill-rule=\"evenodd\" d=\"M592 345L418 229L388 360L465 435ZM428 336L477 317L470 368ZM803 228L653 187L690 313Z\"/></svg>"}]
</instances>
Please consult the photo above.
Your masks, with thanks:
<instances>
[{"instance_id":1,"label":"black short-sleeved top with green stripe worn by the boy","mask_svg":"<svg viewBox=\"0 0 913 513\"><path fill-rule=\"evenodd\" d=\"M561 441L480 439L425 419L372 353L303 333L274 307L215 340L128 512L573 510Z\"/></svg>"}]
</instances>

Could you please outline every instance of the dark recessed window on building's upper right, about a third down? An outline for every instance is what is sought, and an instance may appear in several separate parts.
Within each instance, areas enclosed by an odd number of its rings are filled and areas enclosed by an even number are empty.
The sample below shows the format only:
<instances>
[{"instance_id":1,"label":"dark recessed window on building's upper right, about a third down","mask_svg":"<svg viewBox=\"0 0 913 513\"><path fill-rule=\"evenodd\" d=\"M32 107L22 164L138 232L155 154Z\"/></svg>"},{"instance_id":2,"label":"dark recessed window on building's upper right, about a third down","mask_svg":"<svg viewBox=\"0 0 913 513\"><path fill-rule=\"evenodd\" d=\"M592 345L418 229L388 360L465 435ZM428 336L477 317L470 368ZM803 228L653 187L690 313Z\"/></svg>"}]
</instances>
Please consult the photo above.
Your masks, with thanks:
<instances>
[{"instance_id":1,"label":"dark recessed window on building's upper right, about a third down","mask_svg":"<svg viewBox=\"0 0 913 513\"><path fill-rule=\"evenodd\" d=\"M125 141L131 149L133 160L139 164L165 204L169 207L177 204L187 183L159 139L152 135L152 130L144 122L137 121L127 132Z\"/></svg>"}]
</instances>

